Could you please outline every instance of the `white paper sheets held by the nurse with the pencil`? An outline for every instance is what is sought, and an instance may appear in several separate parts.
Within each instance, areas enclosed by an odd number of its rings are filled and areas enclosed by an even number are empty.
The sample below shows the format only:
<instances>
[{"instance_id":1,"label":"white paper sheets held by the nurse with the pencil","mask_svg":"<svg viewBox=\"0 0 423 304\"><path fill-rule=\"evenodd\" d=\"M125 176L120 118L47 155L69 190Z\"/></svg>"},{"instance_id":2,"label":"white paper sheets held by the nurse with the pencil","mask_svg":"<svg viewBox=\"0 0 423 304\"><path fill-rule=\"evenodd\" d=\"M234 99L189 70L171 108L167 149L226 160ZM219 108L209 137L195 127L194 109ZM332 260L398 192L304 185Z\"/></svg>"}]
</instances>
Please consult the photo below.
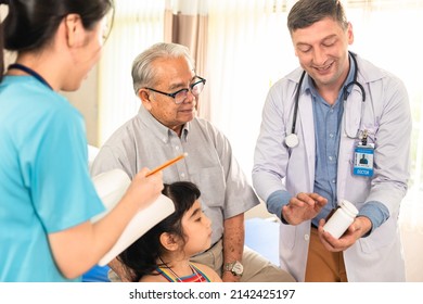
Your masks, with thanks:
<instances>
[{"instance_id":1,"label":"white paper sheets held by the nurse with the pencil","mask_svg":"<svg viewBox=\"0 0 423 304\"><path fill-rule=\"evenodd\" d=\"M121 169L113 169L95 176L93 178L93 182L104 206L106 207L104 213L92 218L92 221L94 223L113 210L120 201L130 185L130 179ZM174 212L174 202L169 198L161 194L155 202L148 207L140 210L132 217L117 242L98 264L100 266L108 264L108 262L130 246L142 235Z\"/></svg>"}]
</instances>

